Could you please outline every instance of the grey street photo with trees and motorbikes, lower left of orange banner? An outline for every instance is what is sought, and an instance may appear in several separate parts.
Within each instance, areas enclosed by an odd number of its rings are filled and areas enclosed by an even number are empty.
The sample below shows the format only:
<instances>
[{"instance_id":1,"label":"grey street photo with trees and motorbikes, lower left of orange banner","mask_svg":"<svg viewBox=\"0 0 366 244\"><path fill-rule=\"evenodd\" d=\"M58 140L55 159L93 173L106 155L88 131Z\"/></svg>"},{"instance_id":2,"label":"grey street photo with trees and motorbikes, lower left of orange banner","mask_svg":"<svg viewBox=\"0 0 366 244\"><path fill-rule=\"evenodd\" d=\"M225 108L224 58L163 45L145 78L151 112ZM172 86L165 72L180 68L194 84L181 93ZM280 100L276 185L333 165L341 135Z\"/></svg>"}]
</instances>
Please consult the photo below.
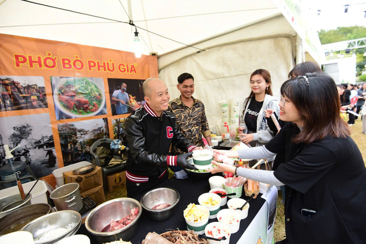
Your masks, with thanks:
<instances>
[{"instance_id":1,"label":"grey street photo with trees and motorbikes, lower left of orange banner","mask_svg":"<svg viewBox=\"0 0 366 244\"><path fill-rule=\"evenodd\" d=\"M36 178L52 173L58 168L50 115L35 114L0 118L1 165L5 159L4 145L12 153L14 161L25 162Z\"/></svg>"}]
</instances>

